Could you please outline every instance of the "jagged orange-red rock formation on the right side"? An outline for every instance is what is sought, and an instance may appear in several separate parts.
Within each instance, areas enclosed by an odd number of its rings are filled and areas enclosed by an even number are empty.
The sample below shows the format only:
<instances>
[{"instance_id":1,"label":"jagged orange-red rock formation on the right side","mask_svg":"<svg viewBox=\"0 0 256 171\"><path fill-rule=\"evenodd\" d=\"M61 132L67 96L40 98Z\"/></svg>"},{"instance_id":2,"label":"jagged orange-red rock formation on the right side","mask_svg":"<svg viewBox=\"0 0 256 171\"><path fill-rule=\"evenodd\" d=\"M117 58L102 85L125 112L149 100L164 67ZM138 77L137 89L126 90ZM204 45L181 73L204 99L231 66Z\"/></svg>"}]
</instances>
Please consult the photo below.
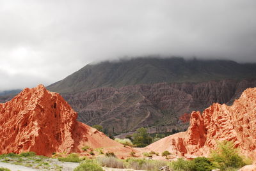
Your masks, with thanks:
<instances>
[{"instance_id":1,"label":"jagged orange-red rock formation on the right side","mask_svg":"<svg viewBox=\"0 0 256 171\"><path fill-rule=\"evenodd\" d=\"M214 103L202 115L192 112L188 131L165 137L145 149L207 156L222 140L234 142L246 156L256 159L256 88L246 89L232 106Z\"/></svg>"}]
</instances>

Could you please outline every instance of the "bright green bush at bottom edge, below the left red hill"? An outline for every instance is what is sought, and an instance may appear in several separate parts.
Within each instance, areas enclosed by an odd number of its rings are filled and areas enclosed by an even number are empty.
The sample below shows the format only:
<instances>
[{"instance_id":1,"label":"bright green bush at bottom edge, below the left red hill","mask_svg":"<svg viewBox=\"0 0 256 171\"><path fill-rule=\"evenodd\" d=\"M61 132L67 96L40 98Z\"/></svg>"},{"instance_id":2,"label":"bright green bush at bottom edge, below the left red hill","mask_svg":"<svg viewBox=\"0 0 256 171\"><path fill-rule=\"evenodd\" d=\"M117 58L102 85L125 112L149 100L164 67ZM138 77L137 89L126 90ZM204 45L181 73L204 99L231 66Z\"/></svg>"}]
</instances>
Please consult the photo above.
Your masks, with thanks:
<instances>
[{"instance_id":1,"label":"bright green bush at bottom edge, below the left red hill","mask_svg":"<svg viewBox=\"0 0 256 171\"><path fill-rule=\"evenodd\" d=\"M104 171L96 162L85 160L74 171Z\"/></svg>"}]
</instances>

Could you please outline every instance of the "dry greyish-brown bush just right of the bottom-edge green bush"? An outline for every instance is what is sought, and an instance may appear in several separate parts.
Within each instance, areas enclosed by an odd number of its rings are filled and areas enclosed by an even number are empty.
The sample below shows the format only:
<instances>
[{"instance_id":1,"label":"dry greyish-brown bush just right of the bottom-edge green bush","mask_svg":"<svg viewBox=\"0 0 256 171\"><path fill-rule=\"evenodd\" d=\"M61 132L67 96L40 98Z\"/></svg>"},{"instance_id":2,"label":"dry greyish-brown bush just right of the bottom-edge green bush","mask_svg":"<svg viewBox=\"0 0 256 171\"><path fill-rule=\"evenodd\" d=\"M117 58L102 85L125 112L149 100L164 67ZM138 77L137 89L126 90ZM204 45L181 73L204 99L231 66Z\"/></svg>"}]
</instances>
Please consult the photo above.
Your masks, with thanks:
<instances>
[{"instance_id":1,"label":"dry greyish-brown bush just right of the bottom-edge green bush","mask_svg":"<svg viewBox=\"0 0 256 171\"><path fill-rule=\"evenodd\" d=\"M97 158L97 161L102 167L124 168L123 162L113 156Z\"/></svg>"}]
</instances>

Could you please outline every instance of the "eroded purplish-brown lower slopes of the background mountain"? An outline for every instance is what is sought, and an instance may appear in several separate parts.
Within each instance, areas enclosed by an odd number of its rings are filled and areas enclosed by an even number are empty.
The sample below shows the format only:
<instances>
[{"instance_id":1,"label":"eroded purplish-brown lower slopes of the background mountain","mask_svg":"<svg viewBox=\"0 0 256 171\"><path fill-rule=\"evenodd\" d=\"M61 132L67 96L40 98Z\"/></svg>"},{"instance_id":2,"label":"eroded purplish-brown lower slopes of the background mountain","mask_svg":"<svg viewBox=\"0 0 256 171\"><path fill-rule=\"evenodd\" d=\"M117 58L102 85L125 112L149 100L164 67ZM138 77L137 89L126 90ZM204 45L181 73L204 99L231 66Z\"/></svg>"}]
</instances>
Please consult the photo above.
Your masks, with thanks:
<instances>
[{"instance_id":1,"label":"eroded purplish-brown lower slopes of the background mountain","mask_svg":"<svg viewBox=\"0 0 256 171\"><path fill-rule=\"evenodd\" d=\"M244 89L255 86L256 79L159 83L101 87L62 96L78 112L79 121L101 124L112 134L142 126L151 133L164 133L188 128L189 115L184 114L202 111L215 102L232 104Z\"/></svg>"}]
</instances>

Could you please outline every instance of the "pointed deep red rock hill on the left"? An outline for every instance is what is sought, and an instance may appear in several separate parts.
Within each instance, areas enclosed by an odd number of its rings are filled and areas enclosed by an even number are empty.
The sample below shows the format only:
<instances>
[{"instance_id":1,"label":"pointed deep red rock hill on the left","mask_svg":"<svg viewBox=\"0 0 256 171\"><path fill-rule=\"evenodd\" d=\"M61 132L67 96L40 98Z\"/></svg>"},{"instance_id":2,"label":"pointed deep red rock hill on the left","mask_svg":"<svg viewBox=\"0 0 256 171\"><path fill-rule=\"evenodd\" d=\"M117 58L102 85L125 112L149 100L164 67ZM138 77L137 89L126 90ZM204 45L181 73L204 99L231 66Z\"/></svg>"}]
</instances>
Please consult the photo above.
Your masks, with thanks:
<instances>
[{"instance_id":1,"label":"pointed deep red rock hill on the left","mask_svg":"<svg viewBox=\"0 0 256 171\"><path fill-rule=\"evenodd\" d=\"M44 85L26 88L11 101L0 103L0 154L34 151L49 156L81 152L84 145L124 148L76 118L60 94L47 91Z\"/></svg>"}]
</instances>

